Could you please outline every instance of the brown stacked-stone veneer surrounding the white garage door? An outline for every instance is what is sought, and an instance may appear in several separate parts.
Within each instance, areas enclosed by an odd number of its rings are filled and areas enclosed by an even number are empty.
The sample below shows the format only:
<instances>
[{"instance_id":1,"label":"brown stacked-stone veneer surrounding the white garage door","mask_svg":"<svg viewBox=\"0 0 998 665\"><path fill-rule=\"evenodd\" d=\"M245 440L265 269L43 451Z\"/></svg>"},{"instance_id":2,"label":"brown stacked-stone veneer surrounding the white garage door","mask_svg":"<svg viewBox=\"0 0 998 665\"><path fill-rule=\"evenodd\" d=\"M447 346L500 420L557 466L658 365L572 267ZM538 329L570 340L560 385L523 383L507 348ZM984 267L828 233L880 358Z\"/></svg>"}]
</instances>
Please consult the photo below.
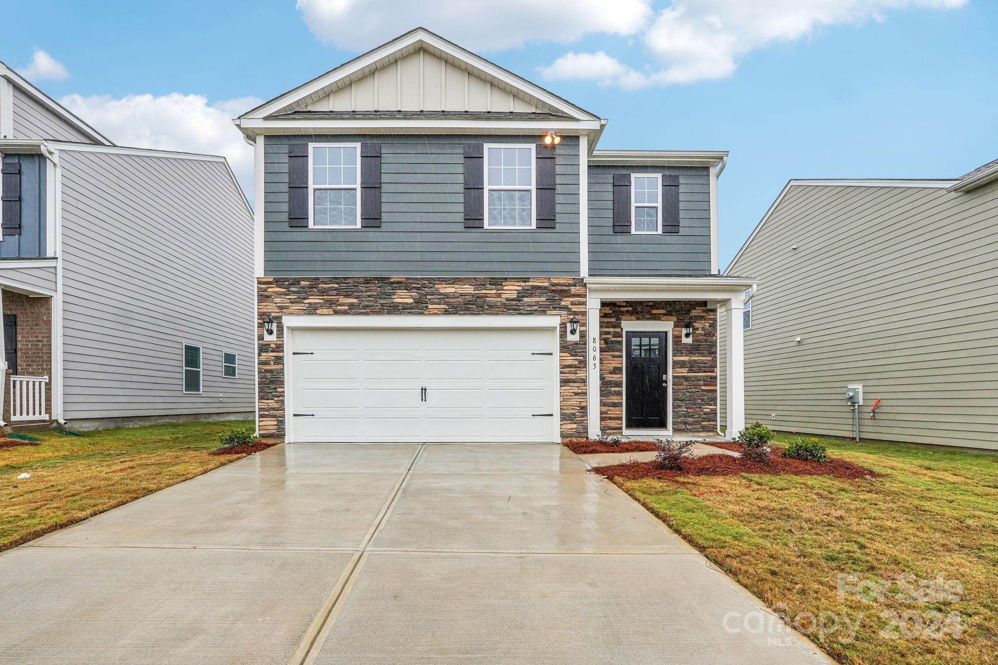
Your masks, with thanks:
<instances>
[{"instance_id":1,"label":"brown stacked-stone veneer surrounding the white garage door","mask_svg":"<svg viewBox=\"0 0 998 665\"><path fill-rule=\"evenodd\" d=\"M571 277L258 277L259 431L284 434L284 314L559 314L561 432L586 436L586 287ZM277 339L262 338L262 319L277 321ZM565 339L579 317L580 341Z\"/></svg>"}]
</instances>

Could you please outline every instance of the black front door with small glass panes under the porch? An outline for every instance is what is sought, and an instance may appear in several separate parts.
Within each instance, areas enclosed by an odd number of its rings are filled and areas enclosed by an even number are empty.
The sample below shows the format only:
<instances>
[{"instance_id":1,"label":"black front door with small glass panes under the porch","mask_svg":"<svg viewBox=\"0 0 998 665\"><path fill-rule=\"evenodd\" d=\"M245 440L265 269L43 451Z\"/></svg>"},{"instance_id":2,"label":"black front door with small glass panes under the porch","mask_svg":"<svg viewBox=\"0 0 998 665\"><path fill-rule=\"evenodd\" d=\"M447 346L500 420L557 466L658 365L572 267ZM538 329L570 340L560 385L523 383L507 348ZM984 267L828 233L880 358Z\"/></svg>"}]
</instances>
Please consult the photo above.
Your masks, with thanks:
<instances>
[{"instance_id":1,"label":"black front door with small glass panes under the porch","mask_svg":"<svg viewBox=\"0 0 998 665\"><path fill-rule=\"evenodd\" d=\"M627 413L624 426L655 428L669 426L667 415L666 333L629 332L624 337Z\"/></svg>"}]
</instances>

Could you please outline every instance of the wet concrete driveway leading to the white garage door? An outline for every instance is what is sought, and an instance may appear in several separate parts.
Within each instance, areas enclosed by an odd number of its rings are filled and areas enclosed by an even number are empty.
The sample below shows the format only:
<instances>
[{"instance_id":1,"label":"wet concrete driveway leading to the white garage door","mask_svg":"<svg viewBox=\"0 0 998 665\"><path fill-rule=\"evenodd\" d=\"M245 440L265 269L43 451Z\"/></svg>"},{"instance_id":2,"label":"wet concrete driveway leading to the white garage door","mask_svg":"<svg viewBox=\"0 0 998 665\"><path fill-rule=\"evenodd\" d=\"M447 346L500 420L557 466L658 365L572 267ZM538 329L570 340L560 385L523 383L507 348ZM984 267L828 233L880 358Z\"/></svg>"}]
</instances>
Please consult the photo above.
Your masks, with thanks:
<instances>
[{"instance_id":1,"label":"wet concrete driveway leading to the white garage door","mask_svg":"<svg viewBox=\"0 0 998 665\"><path fill-rule=\"evenodd\" d=\"M0 555L0 661L826 662L585 470L277 446Z\"/></svg>"}]
</instances>

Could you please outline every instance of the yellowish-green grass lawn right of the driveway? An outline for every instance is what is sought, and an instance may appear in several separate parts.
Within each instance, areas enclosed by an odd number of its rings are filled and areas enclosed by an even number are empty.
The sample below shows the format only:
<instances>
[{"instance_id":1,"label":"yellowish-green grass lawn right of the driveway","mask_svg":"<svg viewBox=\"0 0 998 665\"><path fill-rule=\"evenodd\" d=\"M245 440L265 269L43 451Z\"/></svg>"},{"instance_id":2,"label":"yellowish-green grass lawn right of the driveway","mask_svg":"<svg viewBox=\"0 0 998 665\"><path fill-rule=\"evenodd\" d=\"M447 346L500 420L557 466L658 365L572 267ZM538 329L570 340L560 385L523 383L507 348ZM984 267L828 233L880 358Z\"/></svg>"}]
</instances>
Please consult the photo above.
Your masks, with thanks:
<instances>
[{"instance_id":1,"label":"yellowish-green grass lawn right of the driveway","mask_svg":"<svg viewBox=\"0 0 998 665\"><path fill-rule=\"evenodd\" d=\"M885 476L615 482L839 661L998 662L998 457L822 441Z\"/></svg>"}]
</instances>

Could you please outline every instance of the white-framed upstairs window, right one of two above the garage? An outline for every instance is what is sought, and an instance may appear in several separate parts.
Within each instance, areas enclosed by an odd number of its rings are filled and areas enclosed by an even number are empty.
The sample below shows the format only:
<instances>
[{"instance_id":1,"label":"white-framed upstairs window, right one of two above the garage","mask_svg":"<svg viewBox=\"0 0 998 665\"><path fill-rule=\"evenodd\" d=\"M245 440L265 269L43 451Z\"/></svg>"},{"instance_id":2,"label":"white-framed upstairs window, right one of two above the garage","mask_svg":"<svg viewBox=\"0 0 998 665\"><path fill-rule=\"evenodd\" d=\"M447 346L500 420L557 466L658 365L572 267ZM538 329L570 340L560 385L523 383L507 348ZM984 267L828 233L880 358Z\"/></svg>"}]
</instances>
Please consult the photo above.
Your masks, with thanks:
<instances>
[{"instance_id":1,"label":"white-framed upstairs window, right one of two above the garage","mask_svg":"<svg viewBox=\"0 0 998 665\"><path fill-rule=\"evenodd\" d=\"M485 146L485 227L534 228L534 146Z\"/></svg>"}]
</instances>

